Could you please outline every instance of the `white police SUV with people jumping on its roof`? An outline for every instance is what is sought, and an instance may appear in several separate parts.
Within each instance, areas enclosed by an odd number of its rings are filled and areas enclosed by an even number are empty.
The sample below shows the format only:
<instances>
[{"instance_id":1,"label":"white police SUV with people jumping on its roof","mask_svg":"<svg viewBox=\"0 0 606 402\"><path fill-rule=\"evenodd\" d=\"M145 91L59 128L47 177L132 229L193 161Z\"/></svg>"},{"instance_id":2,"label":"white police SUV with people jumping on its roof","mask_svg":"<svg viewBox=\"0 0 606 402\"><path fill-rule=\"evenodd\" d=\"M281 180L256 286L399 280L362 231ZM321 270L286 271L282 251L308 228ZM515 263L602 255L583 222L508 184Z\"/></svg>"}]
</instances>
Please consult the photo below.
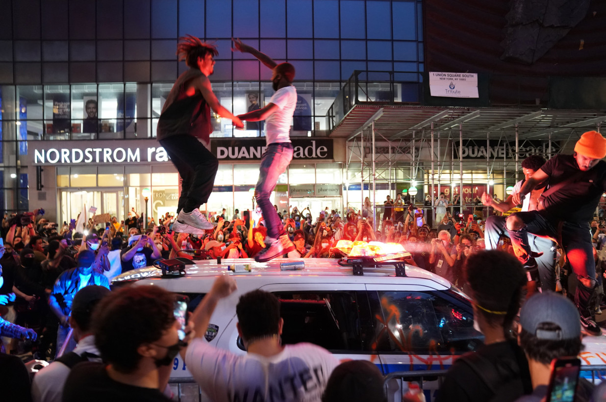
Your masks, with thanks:
<instances>
[{"instance_id":1,"label":"white police SUV with people jumping on its roof","mask_svg":"<svg viewBox=\"0 0 606 402\"><path fill-rule=\"evenodd\" d=\"M315 343L340 360L369 360L384 375L448 369L456 358L483 344L484 337L473 328L467 295L441 276L390 260L407 253L388 250L392 252L382 256L381 251L364 255L367 252L362 249L356 255L347 249L349 258L343 260L190 261L193 264L185 266L185 272L171 272L165 266L163 276L158 267L146 267L117 276L112 285L135 281L161 286L187 295L188 310L193 312L217 275L233 276L238 290L219 301L205 338L234 353L246 353L236 329L236 304L239 296L255 289L274 293L281 300L282 343ZM591 349L586 347L597 357L584 364L604 364L595 352L606 352L604 346L598 340ZM606 359L606 353L602 356ZM190 377L184 361L176 357L171 379Z\"/></svg>"}]
</instances>

